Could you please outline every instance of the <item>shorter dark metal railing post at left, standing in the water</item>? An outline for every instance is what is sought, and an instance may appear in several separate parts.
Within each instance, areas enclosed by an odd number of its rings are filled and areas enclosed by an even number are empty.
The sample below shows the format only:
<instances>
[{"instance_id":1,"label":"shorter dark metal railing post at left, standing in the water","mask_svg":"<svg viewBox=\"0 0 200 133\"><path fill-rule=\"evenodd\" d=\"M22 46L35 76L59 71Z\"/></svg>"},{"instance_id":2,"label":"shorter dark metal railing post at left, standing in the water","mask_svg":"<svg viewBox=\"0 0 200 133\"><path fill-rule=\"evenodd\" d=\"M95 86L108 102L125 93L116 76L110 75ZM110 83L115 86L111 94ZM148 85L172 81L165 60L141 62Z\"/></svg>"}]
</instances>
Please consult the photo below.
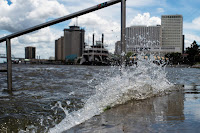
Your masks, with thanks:
<instances>
[{"instance_id":1,"label":"shorter dark metal railing post at left, standing in the water","mask_svg":"<svg viewBox=\"0 0 200 133\"><path fill-rule=\"evenodd\" d=\"M6 39L6 54L7 54L7 87L8 91L12 92L12 60L11 60L11 41Z\"/></svg>"}]
</instances>

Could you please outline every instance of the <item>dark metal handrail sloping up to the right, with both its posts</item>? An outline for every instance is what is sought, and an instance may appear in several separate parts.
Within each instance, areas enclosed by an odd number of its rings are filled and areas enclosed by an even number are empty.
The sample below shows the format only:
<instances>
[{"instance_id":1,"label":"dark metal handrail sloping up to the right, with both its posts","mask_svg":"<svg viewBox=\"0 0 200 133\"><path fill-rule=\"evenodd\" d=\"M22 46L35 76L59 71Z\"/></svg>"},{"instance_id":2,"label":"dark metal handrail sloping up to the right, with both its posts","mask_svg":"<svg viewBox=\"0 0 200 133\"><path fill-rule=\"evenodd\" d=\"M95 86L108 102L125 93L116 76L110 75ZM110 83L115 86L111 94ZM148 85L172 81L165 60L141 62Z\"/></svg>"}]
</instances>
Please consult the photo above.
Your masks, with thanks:
<instances>
[{"instance_id":1,"label":"dark metal handrail sloping up to the right, with both its posts","mask_svg":"<svg viewBox=\"0 0 200 133\"><path fill-rule=\"evenodd\" d=\"M66 21L66 20L69 20L69 19L72 19L72 18L75 18L75 17L78 17L78 16L81 16L81 15L84 15L84 14L87 14L87 13L90 13L90 12L93 12L93 11L96 11L96 10L99 10L99 9L102 9L102 8L105 8L105 7L108 7L108 6L111 6L111 5L114 5L114 4L117 4L119 2L121 2L121 48L122 48L121 51L126 52L126 44L125 44L126 43L125 42L126 0L110 0L108 2L104 2L104 3L98 4L98 5L92 6L90 8L84 9L82 11L78 11L78 12L66 15L64 17L61 17L61 18L58 18L55 20L51 20L46 23L36 25L34 27L31 27L31 28L28 28L28 29L25 29L25 30L22 30L22 31L13 33L11 35L0 38L0 43L6 41L8 91L12 92L12 90L13 90L12 89L11 39L21 36L21 35L24 35L24 34L27 34L27 33L30 33L30 32L33 32L33 31L36 31L36 30L39 30L39 29L42 29L42 28L45 28L45 27L48 27L48 26L51 26L51 25L54 25L54 24L57 24L57 23L60 23L60 22L63 22L63 21Z\"/></svg>"}]
</instances>

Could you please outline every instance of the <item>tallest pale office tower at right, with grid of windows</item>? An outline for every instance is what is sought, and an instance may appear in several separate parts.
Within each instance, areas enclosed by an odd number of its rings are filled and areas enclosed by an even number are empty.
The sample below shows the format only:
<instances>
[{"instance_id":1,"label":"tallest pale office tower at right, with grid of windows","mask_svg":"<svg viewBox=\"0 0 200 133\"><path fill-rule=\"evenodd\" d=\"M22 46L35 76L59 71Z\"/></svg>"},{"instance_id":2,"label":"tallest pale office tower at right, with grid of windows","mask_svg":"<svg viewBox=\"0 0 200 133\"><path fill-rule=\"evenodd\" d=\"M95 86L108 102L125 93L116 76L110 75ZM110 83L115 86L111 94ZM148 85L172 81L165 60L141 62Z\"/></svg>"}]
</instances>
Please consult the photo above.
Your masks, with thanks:
<instances>
[{"instance_id":1,"label":"tallest pale office tower at right, with grid of windows","mask_svg":"<svg viewBox=\"0 0 200 133\"><path fill-rule=\"evenodd\" d=\"M162 50L183 53L183 16L162 15Z\"/></svg>"}]
</instances>

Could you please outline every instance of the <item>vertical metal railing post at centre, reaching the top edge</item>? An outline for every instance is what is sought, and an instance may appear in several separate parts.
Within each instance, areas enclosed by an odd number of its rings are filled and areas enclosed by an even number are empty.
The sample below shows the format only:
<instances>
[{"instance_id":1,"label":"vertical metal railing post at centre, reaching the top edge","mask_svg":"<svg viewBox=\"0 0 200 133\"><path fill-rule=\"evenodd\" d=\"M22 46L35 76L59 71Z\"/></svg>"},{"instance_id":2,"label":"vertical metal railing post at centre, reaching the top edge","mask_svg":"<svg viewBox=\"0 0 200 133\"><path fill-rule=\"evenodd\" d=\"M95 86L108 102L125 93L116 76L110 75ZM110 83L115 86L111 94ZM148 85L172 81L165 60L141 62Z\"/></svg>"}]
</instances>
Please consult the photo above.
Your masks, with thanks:
<instances>
[{"instance_id":1,"label":"vertical metal railing post at centre, reaching the top edge","mask_svg":"<svg viewBox=\"0 0 200 133\"><path fill-rule=\"evenodd\" d=\"M121 54L126 53L126 0L121 0ZM122 62L124 61L124 55Z\"/></svg>"}]
</instances>

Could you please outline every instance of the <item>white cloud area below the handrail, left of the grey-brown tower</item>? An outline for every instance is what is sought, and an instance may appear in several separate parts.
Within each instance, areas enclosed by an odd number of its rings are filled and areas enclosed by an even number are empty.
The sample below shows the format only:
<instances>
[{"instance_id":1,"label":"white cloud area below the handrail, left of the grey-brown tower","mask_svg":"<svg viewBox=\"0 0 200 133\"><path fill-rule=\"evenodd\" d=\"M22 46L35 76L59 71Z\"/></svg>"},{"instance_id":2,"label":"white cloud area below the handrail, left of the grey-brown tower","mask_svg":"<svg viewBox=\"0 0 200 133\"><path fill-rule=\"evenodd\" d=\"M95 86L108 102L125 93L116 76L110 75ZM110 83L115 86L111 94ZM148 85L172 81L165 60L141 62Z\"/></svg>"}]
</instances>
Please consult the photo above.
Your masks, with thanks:
<instances>
[{"instance_id":1,"label":"white cloud area below the handrail, left of the grey-brown tower","mask_svg":"<svg viewBox=\"0 0 200 133\"><path fill-rule=\"evenodd\" d=\"M36 56L48 59L54 56L55 40L63 35L63 31L58 31L52 28L44 28L32 34L23 35L11 40L12 55L15 57L25 57L25 47L36 47ZM6 54L5 42L0 43L0 53Z\"/></svg>"}]
</instances>

